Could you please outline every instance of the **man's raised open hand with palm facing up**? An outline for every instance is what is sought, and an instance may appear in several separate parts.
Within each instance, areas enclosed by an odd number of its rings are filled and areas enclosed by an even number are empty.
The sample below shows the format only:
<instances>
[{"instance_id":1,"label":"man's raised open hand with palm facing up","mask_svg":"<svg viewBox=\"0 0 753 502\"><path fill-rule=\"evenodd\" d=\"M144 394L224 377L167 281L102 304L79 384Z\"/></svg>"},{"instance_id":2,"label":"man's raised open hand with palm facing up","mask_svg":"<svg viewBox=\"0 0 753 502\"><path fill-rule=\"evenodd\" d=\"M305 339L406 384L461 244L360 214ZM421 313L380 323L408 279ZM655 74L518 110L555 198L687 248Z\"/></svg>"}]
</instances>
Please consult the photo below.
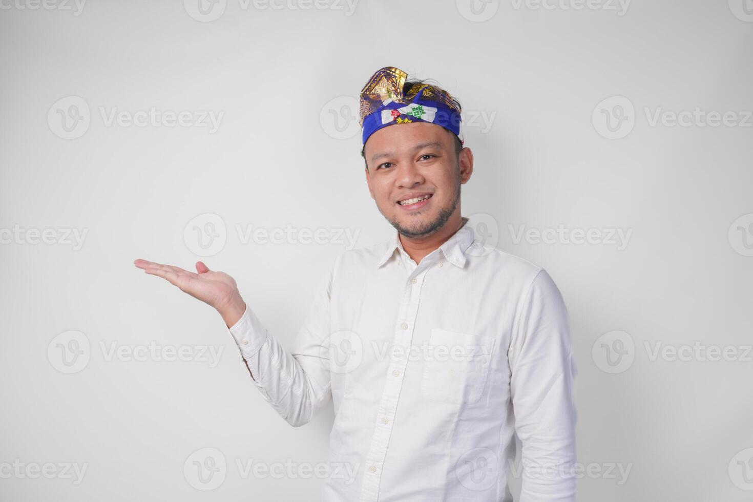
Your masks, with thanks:
<instances>
[{"instance_id":1,"label":"man's raised open hand with palm facing up","mask_svg":"<svg viewBox=\"0 0 753 502\"><path fill-rule=\"evenodd\" d=\"M245 312L245 302L240 297L235 279L225 272L209 270L203 262L196 263L198 273L141 258L134 260L133 264L139 269L144 269L145 273L158 275L184 293L214 307L228 327L236 324Z\"/></svg>"}]
</instances>

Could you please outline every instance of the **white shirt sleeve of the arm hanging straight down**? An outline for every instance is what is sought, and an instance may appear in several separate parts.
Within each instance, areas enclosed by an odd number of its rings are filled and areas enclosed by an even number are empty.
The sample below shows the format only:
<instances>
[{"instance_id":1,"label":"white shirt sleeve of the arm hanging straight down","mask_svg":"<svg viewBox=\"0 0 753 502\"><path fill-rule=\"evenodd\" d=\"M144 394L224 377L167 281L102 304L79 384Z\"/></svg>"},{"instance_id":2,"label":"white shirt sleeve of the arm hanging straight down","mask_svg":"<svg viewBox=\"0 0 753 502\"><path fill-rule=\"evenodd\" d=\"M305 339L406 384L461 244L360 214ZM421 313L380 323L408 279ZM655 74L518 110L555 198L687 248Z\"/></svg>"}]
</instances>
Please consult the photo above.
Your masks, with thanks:
<instances>
[{"instance_id":1,"label":"white shirt sleeve of the arm hanging straight down","mask_svg":"<svg viewBox=\"0 0 753 502\"><path fill-rule=\"evenodd\" d=\"M568 314L539 270L518 313L510 350L515 430L523 445L520 502L575 502L575 421Z\"/></svg>"}]
</instances>

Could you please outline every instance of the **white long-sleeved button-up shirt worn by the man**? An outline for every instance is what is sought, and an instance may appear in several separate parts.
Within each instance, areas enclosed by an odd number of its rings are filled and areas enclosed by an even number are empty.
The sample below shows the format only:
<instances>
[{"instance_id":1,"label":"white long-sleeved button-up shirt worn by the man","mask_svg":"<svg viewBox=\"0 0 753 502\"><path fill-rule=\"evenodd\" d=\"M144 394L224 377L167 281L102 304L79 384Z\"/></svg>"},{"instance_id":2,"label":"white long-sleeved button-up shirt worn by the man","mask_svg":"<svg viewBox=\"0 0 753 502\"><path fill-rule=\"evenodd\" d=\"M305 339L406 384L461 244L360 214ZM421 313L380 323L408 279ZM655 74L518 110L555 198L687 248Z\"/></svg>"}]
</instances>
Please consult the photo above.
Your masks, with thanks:
<instances>
[{"instance_id":1,"label":"white long-sleeved button-up shirt worn by the man","mask_svg":"<svg viewBox=\"0 0 753 502\"><path fill-rule=\"evenodd\" d=\"M544 269L464 226L416 263L398 232L345 251L288 352L251 309L229 328L294 427L331 399L322 500L575 500L567 311Z\"/></svg>"}]
</instances>

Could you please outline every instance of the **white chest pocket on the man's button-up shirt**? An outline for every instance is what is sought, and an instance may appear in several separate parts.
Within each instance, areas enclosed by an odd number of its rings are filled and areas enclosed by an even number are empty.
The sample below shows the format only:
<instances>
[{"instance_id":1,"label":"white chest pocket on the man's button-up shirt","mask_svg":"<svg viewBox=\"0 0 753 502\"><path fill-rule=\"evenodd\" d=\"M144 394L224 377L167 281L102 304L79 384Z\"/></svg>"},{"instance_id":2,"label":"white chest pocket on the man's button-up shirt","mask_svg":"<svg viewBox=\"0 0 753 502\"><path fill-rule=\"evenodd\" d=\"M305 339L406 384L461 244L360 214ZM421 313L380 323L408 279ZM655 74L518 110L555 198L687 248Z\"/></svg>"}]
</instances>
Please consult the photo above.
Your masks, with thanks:
<instances>
[{"instance_id":1,"label":"white chest pocket on the man's button-up shirt","mask_svg":"<svg viewBox=\"0 0 753 502\"><path fill-rule=\"evenodd\" d=\"M433 328L421 381L422 393L445 403L475 403L480 399L494 339Z\"/></svg>"}]
</instances>

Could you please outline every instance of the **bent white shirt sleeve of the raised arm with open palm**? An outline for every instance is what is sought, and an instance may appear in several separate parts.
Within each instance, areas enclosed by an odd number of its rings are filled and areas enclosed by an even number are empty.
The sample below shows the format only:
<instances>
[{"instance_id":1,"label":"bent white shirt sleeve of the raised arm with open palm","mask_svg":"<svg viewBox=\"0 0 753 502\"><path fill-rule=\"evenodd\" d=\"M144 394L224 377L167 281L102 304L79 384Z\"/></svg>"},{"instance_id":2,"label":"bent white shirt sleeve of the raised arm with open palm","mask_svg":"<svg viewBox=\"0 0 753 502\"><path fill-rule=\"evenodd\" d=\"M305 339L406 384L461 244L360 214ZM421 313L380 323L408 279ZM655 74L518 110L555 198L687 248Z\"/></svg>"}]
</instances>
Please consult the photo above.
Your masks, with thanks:
<instances>
[{"instance_id":1,"label":"bent white shirt sleeve of the raised arm with open palm","mask_svg":"<svg viewBox=\"0 0 753 502\"><path fill-rule=\"evenodd\" d=\"M308 423L331 399L330 368L325 342L330 330L330 297L340 257L322 281L293 349L286 351L248 304L242 317L227 328L261 395L294 427Z\"/></svg>"}]
</instances>

